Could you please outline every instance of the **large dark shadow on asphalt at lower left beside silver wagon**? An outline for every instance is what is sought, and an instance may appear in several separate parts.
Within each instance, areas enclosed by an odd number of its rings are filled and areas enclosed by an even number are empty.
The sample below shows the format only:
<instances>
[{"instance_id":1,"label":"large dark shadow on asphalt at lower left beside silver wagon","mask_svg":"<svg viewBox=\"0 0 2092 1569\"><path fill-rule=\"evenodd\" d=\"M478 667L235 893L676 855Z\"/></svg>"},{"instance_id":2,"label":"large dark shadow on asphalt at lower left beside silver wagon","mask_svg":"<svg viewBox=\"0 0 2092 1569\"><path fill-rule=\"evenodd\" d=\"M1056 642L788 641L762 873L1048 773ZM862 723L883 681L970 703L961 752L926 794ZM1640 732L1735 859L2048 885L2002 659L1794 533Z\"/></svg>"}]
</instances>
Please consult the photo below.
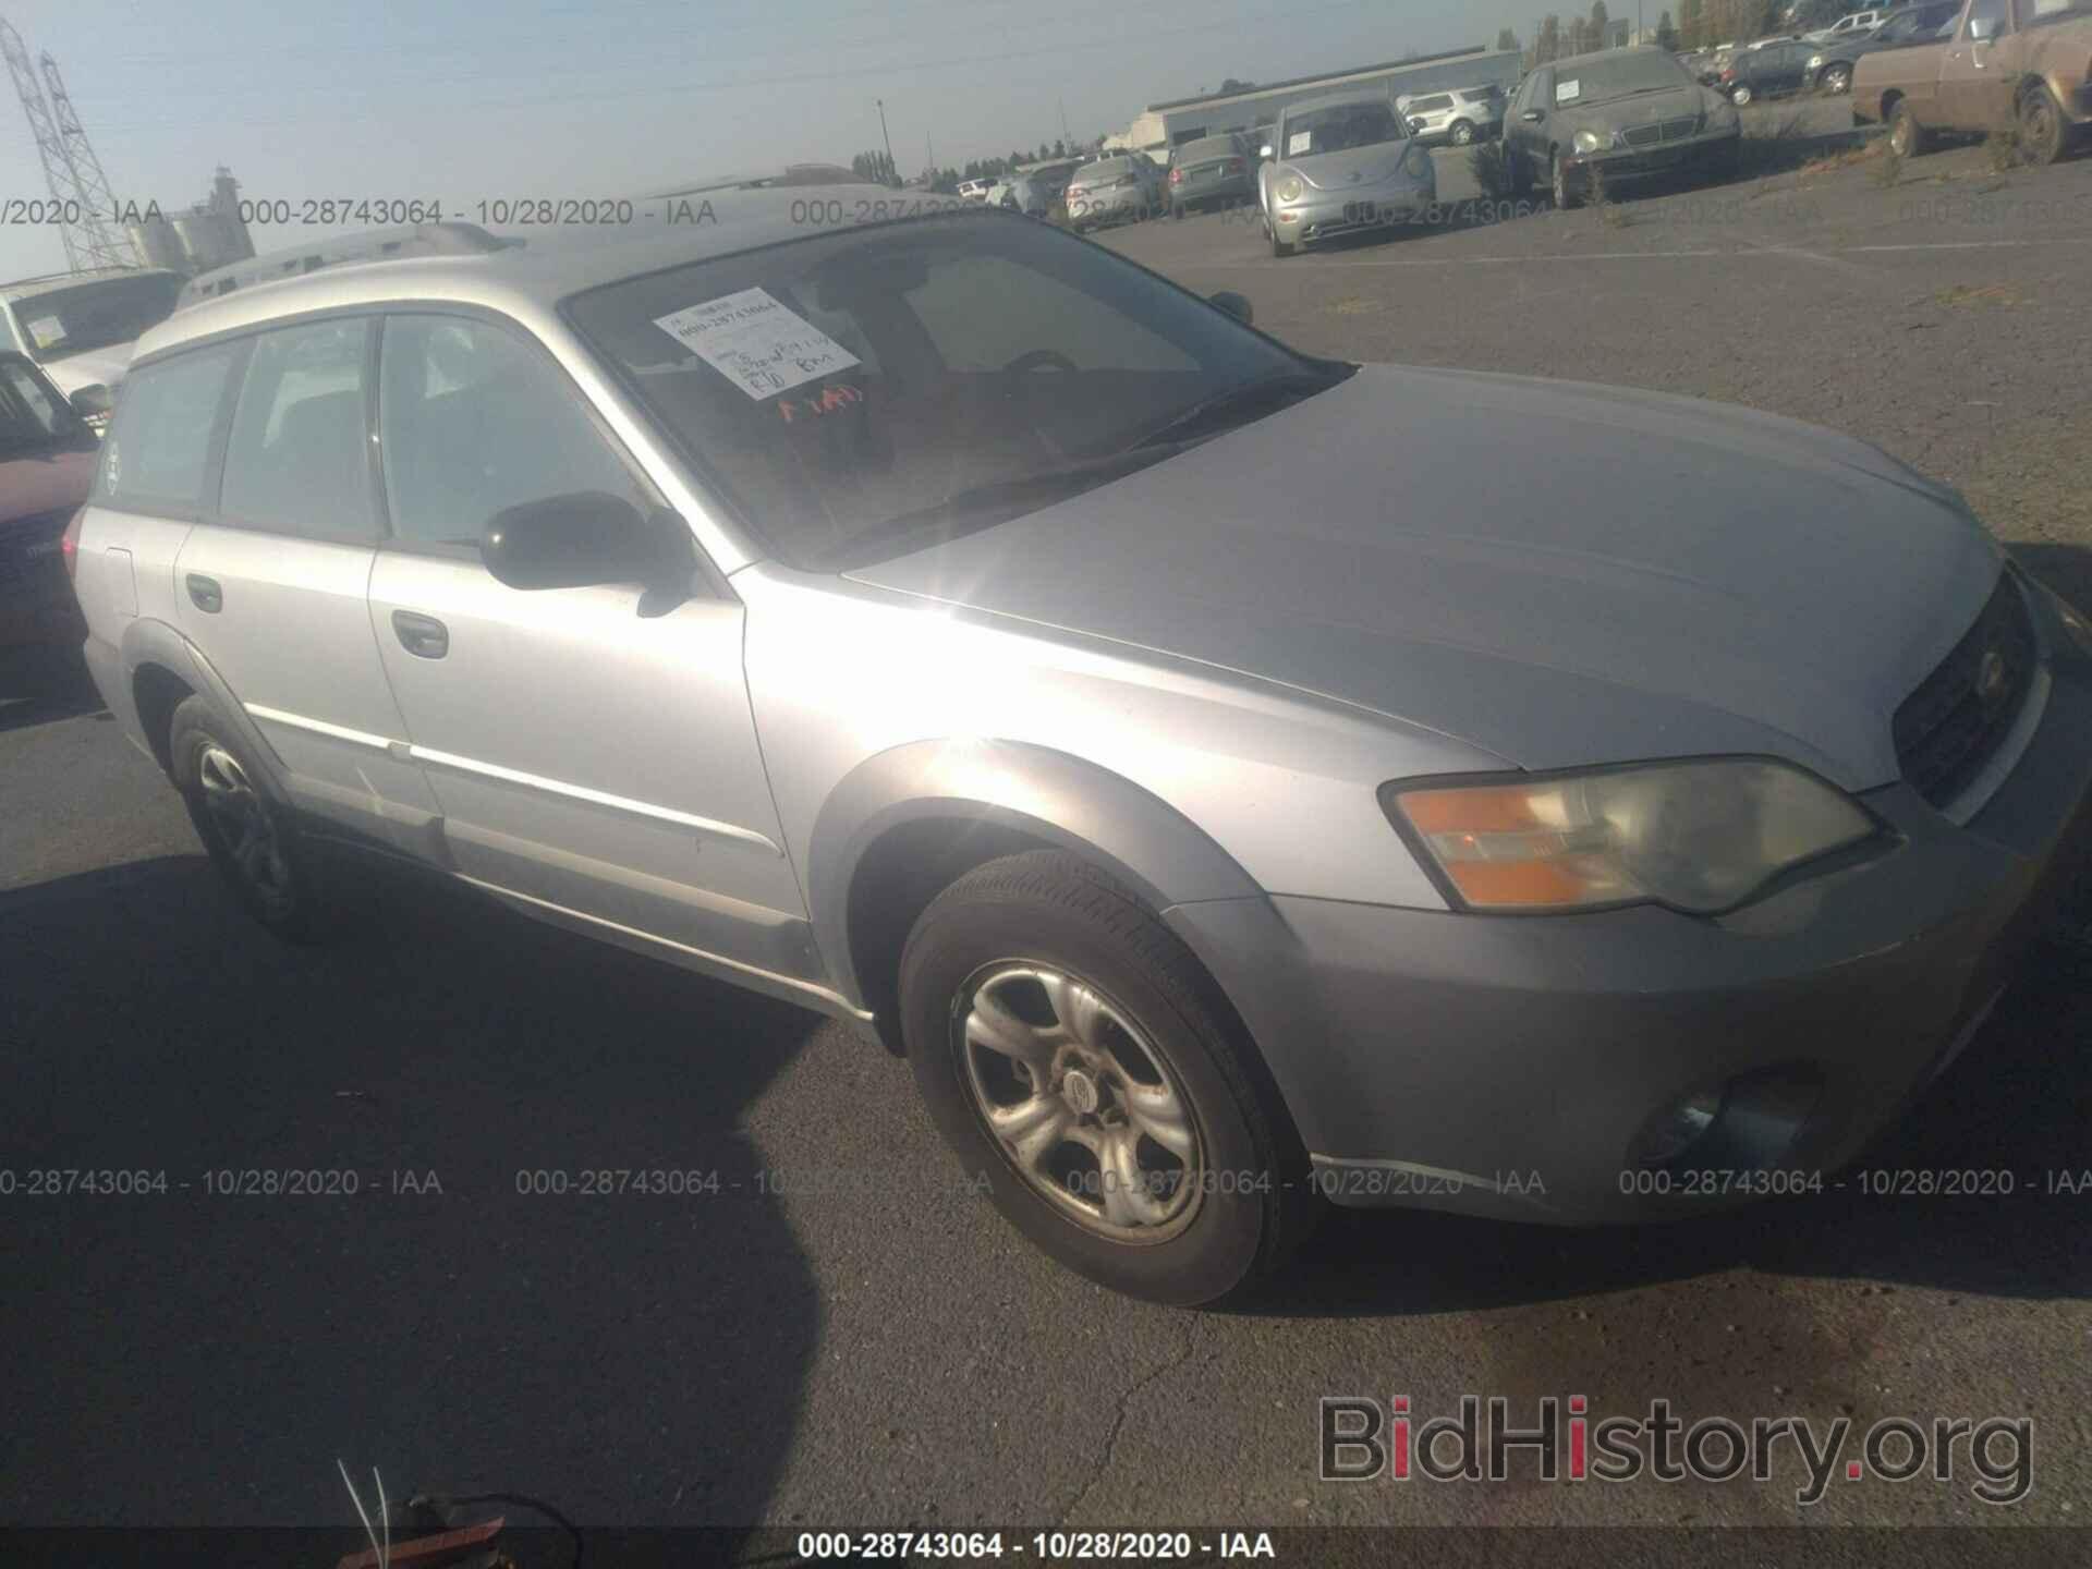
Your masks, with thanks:
<instances>
[{"instance_id":1,"label":"large dark shadow on asphalt at lower left beside silver wagon","mask_svg":"<svg viewBox=\"0 0 2092 1569\"><path fill-rule=\"evenodd\" d=\"M818 1301L738 1121L820 1021L439 887L374 904L322 950L201 856L0 893L0 1519L339 1521L337 1454L584 1527L761 1519Z\"/></svg>"}]
</instances>

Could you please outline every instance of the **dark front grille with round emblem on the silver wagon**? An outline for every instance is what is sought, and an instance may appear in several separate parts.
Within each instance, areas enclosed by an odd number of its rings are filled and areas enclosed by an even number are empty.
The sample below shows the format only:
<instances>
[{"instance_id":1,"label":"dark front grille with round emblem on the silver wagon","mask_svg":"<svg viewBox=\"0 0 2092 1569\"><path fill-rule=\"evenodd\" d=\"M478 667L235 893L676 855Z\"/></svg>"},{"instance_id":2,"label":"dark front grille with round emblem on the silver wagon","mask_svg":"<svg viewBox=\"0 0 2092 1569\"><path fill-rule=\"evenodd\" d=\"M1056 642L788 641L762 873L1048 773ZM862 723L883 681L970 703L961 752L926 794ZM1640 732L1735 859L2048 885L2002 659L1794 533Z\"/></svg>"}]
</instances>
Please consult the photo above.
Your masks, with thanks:
<instances>
[{"instance_id":1,"label":"dark front grille with round emblem on the silver wagon","mask_svg":"<svg viewBox=\"0 0 2092 1569\"><path fill-rule=\"evenodd\" d=\"M2019 718L2038 661L2027 598L2004 573L1969 634L1895 709L1895 759L1918 795L1946 808L1975 782Z\"/></svg>"}]
</instances>

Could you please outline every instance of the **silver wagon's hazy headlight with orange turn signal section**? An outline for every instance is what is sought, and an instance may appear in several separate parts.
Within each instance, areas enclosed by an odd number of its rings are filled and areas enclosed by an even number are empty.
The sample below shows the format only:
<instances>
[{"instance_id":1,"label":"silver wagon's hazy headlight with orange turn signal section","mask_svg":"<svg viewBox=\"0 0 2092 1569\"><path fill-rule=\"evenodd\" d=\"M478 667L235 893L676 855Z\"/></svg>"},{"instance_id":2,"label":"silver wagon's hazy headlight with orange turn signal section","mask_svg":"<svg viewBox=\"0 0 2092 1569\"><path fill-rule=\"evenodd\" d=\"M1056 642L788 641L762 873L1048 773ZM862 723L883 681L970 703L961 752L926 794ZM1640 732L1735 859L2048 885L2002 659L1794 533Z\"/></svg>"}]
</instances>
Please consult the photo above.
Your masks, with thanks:
<instances>
[{"instance_id":1,"label":"silver wagon's hazy headlight with orange turn signal section","mask_svg":"<svg viewBox=\"0 0 2092 1569\"><path fill-rule=\"evenodd\" d=\"M1381 803L1469 910L1655 902L1711 914L1877 833L1822 780L1753 759L1389 784Z\"/></svg>"}]
</instances>

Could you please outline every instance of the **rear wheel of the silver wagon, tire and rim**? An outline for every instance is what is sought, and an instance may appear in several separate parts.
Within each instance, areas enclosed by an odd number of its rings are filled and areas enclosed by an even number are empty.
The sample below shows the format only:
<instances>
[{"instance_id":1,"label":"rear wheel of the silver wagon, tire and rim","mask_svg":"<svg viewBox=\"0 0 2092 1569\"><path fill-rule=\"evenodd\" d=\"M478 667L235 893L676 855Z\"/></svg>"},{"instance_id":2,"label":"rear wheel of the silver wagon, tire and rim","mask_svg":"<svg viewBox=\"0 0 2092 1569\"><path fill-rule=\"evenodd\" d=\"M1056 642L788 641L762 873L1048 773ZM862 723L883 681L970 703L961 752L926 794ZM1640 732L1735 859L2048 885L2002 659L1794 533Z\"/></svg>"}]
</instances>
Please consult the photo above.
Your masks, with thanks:
<instances>
[{"instance_id":1,"label":"rear wheel of the silver wagon, tire and rim","mask_svg":"<svg viewBox=\"0 0 2092 1569\"><path fill-rule=\"evenodd\" d=\"M247 743L207 697L188 697L167 726L174 787L232 897L285 941L335 935L341 910L328 872L274 795Z\"/></svg>"}]
</instances>

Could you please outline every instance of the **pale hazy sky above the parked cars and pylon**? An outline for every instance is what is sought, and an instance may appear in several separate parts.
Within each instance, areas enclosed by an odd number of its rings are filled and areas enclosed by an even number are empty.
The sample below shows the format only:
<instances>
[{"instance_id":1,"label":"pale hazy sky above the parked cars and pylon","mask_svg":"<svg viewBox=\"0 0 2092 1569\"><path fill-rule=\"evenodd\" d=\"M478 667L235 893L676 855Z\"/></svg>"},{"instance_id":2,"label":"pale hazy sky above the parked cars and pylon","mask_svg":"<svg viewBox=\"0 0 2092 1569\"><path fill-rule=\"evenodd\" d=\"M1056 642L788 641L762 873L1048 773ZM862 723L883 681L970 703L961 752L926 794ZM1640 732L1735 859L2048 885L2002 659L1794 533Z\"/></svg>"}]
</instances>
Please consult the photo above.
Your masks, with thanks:
<instances>
[{"instance_id":1,"label":"pale hazy sky above the parked cars and pylon","mask_svg":"<svg viewBox=\"0 0 2092 1569\"><path fill-rule=\"evenodd\" d=\"M1487 44L1506 23L1523 38L1523 13L1490 0L0 0L31 59L56 59L119 203L182 209L224 163L257 201L441 201L475 222L479 201L847 163L881 146L881 98L902 174L927 151L962 167L1052 142L1063 105L1069 134L1090 140L1230 75ZM21 105L0 103L0 203L44 195ZM270 251L326 232L255 226L253 238ZM0 278L63 268L56 232L0 224Z\"/></svg>"}]
</instances>

